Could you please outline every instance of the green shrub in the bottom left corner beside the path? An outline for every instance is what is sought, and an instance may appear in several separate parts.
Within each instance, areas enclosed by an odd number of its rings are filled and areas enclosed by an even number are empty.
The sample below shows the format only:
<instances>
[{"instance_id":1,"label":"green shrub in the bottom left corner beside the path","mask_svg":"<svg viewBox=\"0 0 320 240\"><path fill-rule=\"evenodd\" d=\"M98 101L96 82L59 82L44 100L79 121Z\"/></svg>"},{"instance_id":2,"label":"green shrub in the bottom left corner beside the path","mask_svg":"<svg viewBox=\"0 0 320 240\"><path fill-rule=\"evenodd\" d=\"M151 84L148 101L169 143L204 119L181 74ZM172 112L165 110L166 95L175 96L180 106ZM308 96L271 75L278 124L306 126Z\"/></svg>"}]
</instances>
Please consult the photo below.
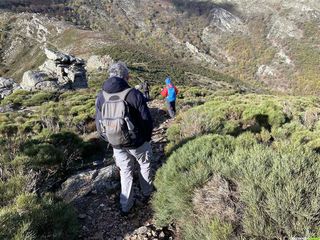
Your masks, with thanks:
<instances>
[{"instance_id":1,"label":"green shrub in the bottom left corner beside the path","mask_svg":"<svg viewBox=\"0 0 320 240\"><path fill-rule=\"evenodd\" d=\"M0 209L1 239L76 239L77 231L75 211L50 195L22 194Z\"/></svg>"}]
</instances>

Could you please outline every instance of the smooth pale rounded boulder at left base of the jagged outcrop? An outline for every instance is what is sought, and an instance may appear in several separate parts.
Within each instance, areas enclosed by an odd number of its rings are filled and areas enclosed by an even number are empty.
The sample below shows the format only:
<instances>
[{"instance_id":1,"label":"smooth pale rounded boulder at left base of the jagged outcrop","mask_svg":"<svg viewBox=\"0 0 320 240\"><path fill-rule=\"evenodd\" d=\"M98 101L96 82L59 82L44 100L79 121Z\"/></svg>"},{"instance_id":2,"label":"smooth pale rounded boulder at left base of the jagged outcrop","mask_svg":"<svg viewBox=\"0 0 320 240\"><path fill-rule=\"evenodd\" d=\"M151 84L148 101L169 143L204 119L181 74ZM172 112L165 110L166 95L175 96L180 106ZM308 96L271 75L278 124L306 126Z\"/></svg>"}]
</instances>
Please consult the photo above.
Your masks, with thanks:
<instances>
[{"instance_id":1,"label":"smooth pale rounded boulder at left base of the jagged outcrop","mask_svg":"<svg viewBox=\"0 0 320 240\"><path fill-rule=\"evenodd\" d=\"M55 90L58 88L56 81L46 72L27 71L23 74L21 87L24 90Z\"/></svg>"}]
</instances>

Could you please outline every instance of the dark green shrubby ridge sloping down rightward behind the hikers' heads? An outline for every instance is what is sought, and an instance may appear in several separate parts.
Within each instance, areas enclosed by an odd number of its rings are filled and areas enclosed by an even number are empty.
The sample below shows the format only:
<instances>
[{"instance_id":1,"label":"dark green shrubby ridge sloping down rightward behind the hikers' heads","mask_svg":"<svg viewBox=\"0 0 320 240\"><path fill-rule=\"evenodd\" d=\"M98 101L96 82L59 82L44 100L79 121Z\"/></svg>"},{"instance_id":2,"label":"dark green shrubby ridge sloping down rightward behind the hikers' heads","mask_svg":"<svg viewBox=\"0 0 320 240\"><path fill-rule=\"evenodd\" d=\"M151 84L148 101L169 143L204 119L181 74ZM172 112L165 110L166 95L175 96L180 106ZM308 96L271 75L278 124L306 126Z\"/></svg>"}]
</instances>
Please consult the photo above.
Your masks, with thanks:
<instances>
[{"instance_id":1,"label":"dark green shrubby ridge sloping down rightward behind the hikers' heads","mask_svg":"<svg viewBox=\"0 0 320 240\"><path fill-rule=\"evenodd\" d=\"M98 50L97 54L108 54L115 61L126 62L131 70L132 79L140 77L149 80L152 84L163 84L165 78L170 76L176 84L196 86L199 81L194 81L195 77L193 75L199 75L200 78L209 78L212 82L219 81L243 85L240 81L209 68L175 60L169 55L159 56L152 49L146 51L139 45L109 46ZM190 75L190 73L193 75ZM207 83L207 87L212 88L210 82Z\"/></svg>"}]
</instances>

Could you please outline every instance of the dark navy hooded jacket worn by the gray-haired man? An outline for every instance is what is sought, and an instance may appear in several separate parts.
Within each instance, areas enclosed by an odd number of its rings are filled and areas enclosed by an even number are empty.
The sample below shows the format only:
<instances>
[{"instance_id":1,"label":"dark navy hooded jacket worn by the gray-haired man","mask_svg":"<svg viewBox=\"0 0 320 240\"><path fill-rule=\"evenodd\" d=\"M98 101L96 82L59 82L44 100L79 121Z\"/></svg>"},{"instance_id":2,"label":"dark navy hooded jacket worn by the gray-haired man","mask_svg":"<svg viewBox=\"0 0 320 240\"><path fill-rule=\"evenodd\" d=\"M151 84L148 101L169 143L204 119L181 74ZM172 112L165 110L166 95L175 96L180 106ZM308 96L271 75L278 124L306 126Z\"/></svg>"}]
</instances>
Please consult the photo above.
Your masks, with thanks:
<instances>
[{"instance_id":1,"label":"dark navy hooded jacket worn by the gray-haired man","mask_svg":"<svg viewBox=\"0 0 320 240\"><path fill-rule=\"evenodd\" d=\"M107 93L118 93L127 88L130 88L129 84L122 78L117 77L109 78L103 83L102 86L102 90L106 91ZM104 101L105 99L102 91L100 91L96 99L96 126L100 134L101 131L99 120L101 120L101 108ZM125 101L129 105L129 113L131 116L131 121L136 129L137 138L132 144L123 147L134 149L140 147L146 141L151 140L153 121L146 100L140 91L132 89L128 93ZM106 139L106 136L101 137Z\"/></svg>"}]
</instances>

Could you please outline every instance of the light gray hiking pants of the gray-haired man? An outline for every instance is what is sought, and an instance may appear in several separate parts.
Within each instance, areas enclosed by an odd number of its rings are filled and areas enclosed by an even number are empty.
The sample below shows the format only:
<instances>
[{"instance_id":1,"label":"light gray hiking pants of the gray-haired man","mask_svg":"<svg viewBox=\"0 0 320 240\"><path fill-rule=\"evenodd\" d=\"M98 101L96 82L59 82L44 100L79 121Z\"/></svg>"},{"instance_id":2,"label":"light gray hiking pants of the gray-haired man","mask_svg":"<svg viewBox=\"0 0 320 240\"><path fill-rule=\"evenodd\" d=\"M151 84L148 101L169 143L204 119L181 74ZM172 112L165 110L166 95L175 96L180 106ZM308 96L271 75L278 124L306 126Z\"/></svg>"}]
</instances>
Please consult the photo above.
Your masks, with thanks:
<instances>
[{"instance_id":1,"label":"light gray hiking pants of the gray-haired man","mask_svg":"<svg viewBox=\"0 0 320 240\"><path fill-rule=\"evenodd\" d=\"M128 212L133 206L133 168L134 161L140 165L139 181L142 194L150 196L152 187L152 149L149 142L145 142L137 149L113 149L116 165L120 168L122 211Z\"/></svg>"}]
</instances>

